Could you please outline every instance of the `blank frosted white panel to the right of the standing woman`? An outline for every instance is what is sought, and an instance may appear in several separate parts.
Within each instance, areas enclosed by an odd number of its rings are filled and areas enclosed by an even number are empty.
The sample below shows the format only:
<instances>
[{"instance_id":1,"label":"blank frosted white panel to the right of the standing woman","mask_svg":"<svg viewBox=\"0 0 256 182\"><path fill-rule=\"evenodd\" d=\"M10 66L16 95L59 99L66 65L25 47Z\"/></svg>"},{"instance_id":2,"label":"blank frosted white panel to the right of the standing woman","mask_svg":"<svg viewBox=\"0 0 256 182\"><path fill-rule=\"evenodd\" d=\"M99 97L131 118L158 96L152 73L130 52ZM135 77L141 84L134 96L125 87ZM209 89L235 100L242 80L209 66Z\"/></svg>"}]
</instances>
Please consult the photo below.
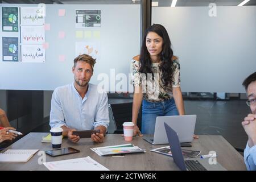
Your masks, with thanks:
<instances>
[{"instance_id":1,"label":"blank frosted white panel to the right of the standing woman","mask_svg":"<svg viewBox=\"0 0 256 182\"><path fill-rule=\"evenodd\" d=\"M256 6L152 7L152 23L166 27L180 59L183 92L244 93L256 71Z\"/></svg>"}]
</instances>

